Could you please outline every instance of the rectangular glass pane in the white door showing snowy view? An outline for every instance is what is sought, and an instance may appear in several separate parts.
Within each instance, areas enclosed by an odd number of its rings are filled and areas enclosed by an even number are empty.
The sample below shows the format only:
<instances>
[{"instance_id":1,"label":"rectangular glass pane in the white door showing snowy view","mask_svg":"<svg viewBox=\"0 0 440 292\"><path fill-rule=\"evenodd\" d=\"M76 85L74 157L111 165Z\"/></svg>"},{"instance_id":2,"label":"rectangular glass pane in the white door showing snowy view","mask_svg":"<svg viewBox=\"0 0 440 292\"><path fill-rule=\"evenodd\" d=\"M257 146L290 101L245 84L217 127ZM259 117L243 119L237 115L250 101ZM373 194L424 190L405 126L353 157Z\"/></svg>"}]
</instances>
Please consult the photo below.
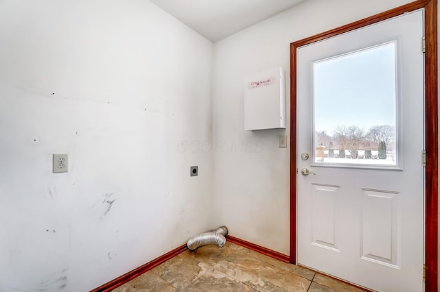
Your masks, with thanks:
<instances>
[{"instance_id":1,"label":"rectangular glass pane in the white door showing snowy view","mask_svg":"<svg viewBox=\"0 0 440 292\"><path fill-rule=\"evenodd\" d=\"M397 165L395 48L313 63L316 164Z\"/></svg>"}]
</instances>

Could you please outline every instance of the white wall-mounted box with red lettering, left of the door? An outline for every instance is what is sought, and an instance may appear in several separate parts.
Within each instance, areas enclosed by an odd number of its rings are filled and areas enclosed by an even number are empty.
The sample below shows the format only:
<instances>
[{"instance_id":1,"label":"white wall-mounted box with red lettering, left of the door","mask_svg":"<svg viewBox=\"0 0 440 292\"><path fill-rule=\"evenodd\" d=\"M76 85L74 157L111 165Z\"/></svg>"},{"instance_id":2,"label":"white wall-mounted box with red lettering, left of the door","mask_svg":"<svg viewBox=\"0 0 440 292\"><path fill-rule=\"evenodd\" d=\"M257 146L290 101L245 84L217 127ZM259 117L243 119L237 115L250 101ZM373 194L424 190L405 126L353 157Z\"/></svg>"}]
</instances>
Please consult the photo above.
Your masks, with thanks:
<instances>
[{"instance_id":1,"label":"white wall-mounted box with red lettering, left of the door","mask_svg":"<svg viewBox=\"0 0 440 292\"><path fill-rule=\"evenodd\" d=\"M285 129L285 88L282 68L245 77L245 130Z\"/></svg>"}]
</instances>

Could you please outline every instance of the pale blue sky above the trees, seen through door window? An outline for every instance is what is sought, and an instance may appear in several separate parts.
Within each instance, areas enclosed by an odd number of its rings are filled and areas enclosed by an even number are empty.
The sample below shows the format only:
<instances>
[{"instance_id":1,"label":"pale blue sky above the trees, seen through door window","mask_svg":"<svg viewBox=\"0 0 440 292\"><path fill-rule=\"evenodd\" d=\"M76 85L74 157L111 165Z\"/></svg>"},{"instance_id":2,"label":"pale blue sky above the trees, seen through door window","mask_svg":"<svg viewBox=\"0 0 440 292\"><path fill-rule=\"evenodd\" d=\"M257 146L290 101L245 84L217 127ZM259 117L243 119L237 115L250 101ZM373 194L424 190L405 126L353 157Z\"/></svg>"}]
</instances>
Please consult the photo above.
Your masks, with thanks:
<instances>
[{"instance_id":1,"label":"pale blue sky above the trees, seen through door window","mask_svg":"<svg viewBox=\"0 0 440 292\"><path fill-rule=\"evenodd\" d=\"M314 62L315 130L395 125L395 42Z\"/></svg>"}]
</instances>

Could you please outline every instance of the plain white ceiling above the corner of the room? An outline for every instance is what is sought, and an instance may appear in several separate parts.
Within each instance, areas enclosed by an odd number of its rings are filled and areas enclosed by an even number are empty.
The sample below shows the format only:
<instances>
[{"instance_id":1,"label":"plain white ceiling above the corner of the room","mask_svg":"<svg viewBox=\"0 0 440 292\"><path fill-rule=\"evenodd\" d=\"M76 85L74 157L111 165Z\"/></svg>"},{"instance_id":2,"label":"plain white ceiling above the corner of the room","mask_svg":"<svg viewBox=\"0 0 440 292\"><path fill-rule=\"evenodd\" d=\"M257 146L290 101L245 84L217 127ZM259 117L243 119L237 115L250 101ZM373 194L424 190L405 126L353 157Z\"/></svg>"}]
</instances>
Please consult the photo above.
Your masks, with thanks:
<instances>
[{"instance_id":1,"label":"plain white ceiling above the corner of the room","mask_svg":"<svg viewBox=\"0 0 440 292\"><path fill-rule=\"evenodd\" d=\"M217 42L307 0L150 0Z\"/></svg>"}]
</instances>

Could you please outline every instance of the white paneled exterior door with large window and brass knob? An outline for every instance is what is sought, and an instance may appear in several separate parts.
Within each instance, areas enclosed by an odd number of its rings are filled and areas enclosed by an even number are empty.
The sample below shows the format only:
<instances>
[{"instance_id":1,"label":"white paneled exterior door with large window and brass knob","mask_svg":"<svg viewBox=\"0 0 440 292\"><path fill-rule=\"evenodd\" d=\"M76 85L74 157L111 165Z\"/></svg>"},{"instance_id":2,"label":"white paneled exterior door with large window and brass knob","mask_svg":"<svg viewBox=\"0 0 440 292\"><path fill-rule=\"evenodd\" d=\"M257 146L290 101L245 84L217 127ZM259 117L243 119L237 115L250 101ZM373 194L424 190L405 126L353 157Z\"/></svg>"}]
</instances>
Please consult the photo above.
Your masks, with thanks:
<instances>
[{"instance_id":1,"label":"white paneled exterior door with large window and brass knob","mask_svg":"<svg viewBox=\"0 0 440 292\"><path fill-rule=\"evenodd\" d=\"M298 48L298 264L423 291L422 38L417 10Z\"/></svg>"}]
</instances>

